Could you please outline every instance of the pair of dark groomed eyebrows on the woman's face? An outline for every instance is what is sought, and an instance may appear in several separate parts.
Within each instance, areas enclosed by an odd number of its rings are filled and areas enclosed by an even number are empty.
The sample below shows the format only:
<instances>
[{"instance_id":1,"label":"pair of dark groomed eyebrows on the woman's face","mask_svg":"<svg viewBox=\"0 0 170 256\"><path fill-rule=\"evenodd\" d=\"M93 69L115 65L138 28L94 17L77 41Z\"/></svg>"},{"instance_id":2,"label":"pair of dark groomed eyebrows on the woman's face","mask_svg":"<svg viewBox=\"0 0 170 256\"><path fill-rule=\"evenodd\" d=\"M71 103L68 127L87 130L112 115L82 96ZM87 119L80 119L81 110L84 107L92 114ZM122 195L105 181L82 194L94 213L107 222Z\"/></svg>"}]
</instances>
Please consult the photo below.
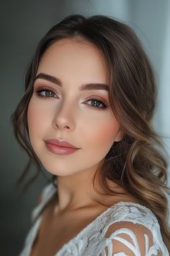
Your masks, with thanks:
<instances>
[{"instance_id":1,"label":"pair of dark groomed eyebrows on the woman's face","mask_svg":"<svg viewBox=\"0 0 170 256\"><path fill-rule=\"evenodd\" d=\"M37 76L35 77L35 80L37 80L38 78L47 80L49 82L53 82L55 85L59 85L62 87L62 82L58 77L53 77L50 74L45 74L45 73L40 73L37 74ZM79 90L109 90L109 85L103 84L103 83L88 83L85 85L81 85Z\"/></svg>"}]
</instances>

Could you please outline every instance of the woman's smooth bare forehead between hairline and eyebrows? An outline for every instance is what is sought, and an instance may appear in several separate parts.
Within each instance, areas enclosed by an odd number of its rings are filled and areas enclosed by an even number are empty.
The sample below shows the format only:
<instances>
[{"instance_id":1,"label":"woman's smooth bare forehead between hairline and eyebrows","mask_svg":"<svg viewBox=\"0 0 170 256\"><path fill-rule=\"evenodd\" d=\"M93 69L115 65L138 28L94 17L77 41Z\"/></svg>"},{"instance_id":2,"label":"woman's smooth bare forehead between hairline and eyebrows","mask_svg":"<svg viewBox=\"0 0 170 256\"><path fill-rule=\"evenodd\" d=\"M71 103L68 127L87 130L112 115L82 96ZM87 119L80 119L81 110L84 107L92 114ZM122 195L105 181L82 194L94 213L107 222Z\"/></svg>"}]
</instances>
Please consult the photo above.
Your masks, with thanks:
<instances>
[{"instance_id":1,"label":"woman's smooth bare forehead between hairline and eyebrows","mask_svg":"<svg viewBox=\"0 0 170 256\"><path fill-rule=\"evenodd\" d=\"M97 46L75 38L64 38L53 43L42 55L37 73L45 72L51 75L76 74L76 77L86 77L107 82L107 68L104 56Z\"/></svg>"}]
</instances>

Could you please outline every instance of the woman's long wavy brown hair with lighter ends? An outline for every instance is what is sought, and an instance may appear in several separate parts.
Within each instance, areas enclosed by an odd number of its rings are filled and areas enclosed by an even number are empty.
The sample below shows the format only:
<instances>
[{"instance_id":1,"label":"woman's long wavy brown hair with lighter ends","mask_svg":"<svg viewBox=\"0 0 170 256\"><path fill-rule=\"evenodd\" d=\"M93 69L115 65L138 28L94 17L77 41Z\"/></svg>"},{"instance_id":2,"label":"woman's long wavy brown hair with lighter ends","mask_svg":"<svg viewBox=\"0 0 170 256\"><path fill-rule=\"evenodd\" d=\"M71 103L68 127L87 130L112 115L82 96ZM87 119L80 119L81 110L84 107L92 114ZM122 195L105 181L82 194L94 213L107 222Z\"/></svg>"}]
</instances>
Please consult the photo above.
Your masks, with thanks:
<instances>
[{"instance_id":1,"label":"woman's long wavy brown hair with lighter ends","mask_svg":"<svg viewBox=\"0 0 170 256\"><path fill-rule=\"evenodd\" d=\"M156 84L151 64L138 38L123 22L104 15L89 18L79 14L70 15L53 26L40 40L27 69L24 96L12 114L14 135L30 157L19 182L27 174L32 160L37 164L37 174L40 172L40 162L29 141L27 107L42 54L54 42L63 38L88 40L101 51L107 64L110 106L122 128L123 139L112 145L97 170L99 182L104 188L104 192L99 193L114 195L114 191L108 187L107 179L124 187L140 204L146 205L156 215L166 247L170 249L168 202L165 195L165 192L169 192L166 186L167 163L161 153L161 140L151 126Z\"/></svg>"}]
</instances>

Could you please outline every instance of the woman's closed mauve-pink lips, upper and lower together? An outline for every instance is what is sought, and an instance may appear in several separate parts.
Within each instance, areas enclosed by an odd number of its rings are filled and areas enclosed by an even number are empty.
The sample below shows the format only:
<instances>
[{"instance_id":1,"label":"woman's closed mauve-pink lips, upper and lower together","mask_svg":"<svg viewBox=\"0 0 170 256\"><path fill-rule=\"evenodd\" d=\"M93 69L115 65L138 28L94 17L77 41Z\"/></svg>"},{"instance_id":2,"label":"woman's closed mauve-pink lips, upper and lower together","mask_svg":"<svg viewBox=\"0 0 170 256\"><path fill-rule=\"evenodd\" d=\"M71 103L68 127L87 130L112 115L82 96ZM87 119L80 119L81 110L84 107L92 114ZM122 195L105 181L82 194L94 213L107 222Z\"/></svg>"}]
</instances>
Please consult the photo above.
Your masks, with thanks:
<instances>
[{"instance_id":1,"label":"woman's closed mauve-pink lips, upper and lower together","mask_svg":"<svg viewBox=\"0 0 170 256\"><path fill-rule=\"evenodd\" d=\"M45 145L50 152L55 153L57 155L70 155L74 153L76 150L79 150L79 148L76 148L75 146L71 145L70 143L66 141L59 141L56 139L50 139L45 140Z\"/></svg>"}]
</instances>

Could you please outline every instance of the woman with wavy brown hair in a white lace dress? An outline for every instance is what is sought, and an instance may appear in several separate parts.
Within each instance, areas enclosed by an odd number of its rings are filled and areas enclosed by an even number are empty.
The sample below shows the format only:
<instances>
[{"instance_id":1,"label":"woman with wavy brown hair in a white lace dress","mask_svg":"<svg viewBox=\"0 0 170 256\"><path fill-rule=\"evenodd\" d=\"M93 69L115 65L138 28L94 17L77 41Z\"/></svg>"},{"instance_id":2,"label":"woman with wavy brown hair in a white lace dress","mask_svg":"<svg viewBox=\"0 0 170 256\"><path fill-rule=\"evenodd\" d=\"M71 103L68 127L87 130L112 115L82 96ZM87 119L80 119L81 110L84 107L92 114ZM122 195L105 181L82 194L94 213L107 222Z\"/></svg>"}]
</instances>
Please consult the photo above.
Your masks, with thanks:
<instances>
[{"instance_id":1,"label":"woman with wavy brown hair in a white lace dress","mask_svg":"<svg viewBox=\"0 0 170 256\"><path fill-rule=\"evenodd\" d=\"M71 15L40 40L12 116L50 174L21 255L169 255L156 86L133 31Z\"/></svg>"}]
</instances>

